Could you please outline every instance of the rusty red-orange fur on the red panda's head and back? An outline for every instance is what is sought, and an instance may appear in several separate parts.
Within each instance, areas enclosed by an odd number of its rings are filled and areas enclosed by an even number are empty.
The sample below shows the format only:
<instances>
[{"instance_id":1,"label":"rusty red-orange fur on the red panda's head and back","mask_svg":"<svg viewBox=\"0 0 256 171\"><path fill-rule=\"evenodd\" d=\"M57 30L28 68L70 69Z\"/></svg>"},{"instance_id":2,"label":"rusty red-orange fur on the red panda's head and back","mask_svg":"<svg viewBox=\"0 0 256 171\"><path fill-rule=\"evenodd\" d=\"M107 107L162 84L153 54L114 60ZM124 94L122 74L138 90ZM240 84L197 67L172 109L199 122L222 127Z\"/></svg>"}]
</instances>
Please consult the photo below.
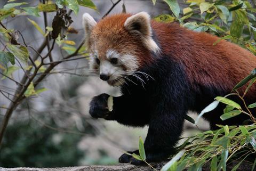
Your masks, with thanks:
<instances>
[{"instance_id":1,"label":"rusty red-orange fur on the red panda's head and back","mask_svg":"<svg viewBox=\"0 0 256 171\"><path fill-rule=\"evenodd\" d=\"M139 67L154 62L153 56L142 41L124 29L125 20L131 14L116 14L101 20L92 30L90 46L101 47L99 58L114 48L119 53L138 57ZM185 66L192 85L215 86L231 89L256 67L256 56L236 44L221 40L204 32L195 32L180 27L177 23L151 21L163 56L170 56ZM245 87L241 88L243 92ZM247 93L256 96L254 84Z\"/></svg>"}]
</instances>

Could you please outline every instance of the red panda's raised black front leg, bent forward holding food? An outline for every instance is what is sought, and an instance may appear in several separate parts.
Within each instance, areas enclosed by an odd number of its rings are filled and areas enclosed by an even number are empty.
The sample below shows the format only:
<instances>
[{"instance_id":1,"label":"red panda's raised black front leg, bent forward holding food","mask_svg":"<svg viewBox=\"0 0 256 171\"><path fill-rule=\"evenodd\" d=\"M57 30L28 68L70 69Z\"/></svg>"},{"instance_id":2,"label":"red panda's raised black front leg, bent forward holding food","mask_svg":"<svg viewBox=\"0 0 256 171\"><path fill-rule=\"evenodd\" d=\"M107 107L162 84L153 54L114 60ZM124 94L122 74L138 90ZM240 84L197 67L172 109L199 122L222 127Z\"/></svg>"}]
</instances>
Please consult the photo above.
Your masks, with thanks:
<instances>
[{"instance_id":1,"label":"red panda's raised black front leg, bent forward holding food","mask_svg":"<svg viewBox=\"0 0 256 171\"><path fill-rule=\"evenodd\" d=\"M145 126L149 123L149 113L142 100L131 96L123 95L113 97L113 111L108 110L108 94L100 94L93 97L90 102L90 115L94 118L116 120L120 124L130 126Z\"/></svg>"}]
</instances>

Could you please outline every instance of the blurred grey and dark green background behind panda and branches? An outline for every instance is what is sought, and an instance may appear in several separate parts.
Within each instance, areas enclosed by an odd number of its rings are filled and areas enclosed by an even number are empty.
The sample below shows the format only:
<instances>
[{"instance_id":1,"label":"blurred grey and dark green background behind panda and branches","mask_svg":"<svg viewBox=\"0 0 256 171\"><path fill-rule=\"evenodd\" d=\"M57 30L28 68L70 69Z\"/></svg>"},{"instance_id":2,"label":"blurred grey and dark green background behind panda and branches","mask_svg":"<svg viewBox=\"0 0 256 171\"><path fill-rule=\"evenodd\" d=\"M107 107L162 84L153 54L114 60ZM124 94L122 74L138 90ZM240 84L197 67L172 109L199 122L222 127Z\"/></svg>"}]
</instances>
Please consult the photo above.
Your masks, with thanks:
<instances>
[{"instance_id":1,"label":"blurred grey and dark green background behind panda and branches","mask_svg":"<svg viewBox=\"0 0 256 171\"><path fill-rule=\"evenodd\" d=\"M68 38L77 44L82 41L82 15L90 13L95 20L100 20L104 14L116 3L116 0L92 0L98 12L81 7L76 15L71 13L77 34L69 34ZM35 6L39 0L15 1L29 2ZM7 0L0 1L0 8ZM183 1L179 4L182 7ZM33 5L32 5L33 6ZM152 17L159 14L171 13L169 6L159 1L153 5L151 0L122 0L109 14L129 12L148 12ZM39 26L44 27L42 17L29 16ZM48 13L48 25L55 12ZM28 44L38 48L42 43L42 35L27 20L19 15L7 18L3 24L10 29L19 30ZM0 38L1 40L2 38ZM1 40L2 41L2 40ZM1 50L4 48L0 44ZM35 52L30 51L34 54ZM42 54L46 54L47 50ZM61 59L68 51L56 47L52 52L54 58ZM22 71L14 71L13 78L19 80ZM9 79L1 79L2 91L13 92L17 85ZM51 72L41 87L47 91L27 99L15 110L10 124L7 126L4 141L1 146L0 167L65 167L92 164L116 164L123 151L138 149L139 136L145 139L147 127L132 128L103 119L90 117L89 102L95 95L107 93L120 95L118 87L110 87L98 77L88 72L86 59L63 62ZM5 113L4 107L9 100L0 94L0 121ZM190 113L194 117L193 113ZM201 130L208 128L207 123L198 124ZM181 128L182 129L182 128ZM186 121L183 137L198 133L200 130ZM181 140L182 141L182 140Z\"/></svg>"}]
</instances>

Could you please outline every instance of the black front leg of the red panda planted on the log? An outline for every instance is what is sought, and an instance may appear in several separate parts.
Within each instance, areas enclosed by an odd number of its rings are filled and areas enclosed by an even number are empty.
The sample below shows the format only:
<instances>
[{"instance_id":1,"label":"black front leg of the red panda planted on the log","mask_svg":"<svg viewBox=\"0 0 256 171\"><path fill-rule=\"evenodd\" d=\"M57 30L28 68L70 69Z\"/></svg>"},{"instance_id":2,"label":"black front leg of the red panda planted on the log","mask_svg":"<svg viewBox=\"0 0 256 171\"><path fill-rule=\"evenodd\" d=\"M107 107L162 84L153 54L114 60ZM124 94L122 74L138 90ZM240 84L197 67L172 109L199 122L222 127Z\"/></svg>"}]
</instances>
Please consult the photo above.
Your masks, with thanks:
<instances>
[{"instance_id":1,"label":"black front leg of the red panda planted on the log","mask_svg":"<svg viewBox=\"0 0 256 171\"><path fill-rule=\"evenodd\" d=\"M163 109L163 108L162 108ZM163 111L164 112L164 111ZM184 117L186 110L177 109L163 113L158 112L151 118L149 123L148 134L144 143L146 151L146 161L162 161L167 159L171 154L175 153L174 145L182 133ZM132 153L137 153L138 150ZM130 162L134 165L141 165L143 161L132 158L127 154L123 154L119 158L119 162Z\"/></svg>"}]
</instances>

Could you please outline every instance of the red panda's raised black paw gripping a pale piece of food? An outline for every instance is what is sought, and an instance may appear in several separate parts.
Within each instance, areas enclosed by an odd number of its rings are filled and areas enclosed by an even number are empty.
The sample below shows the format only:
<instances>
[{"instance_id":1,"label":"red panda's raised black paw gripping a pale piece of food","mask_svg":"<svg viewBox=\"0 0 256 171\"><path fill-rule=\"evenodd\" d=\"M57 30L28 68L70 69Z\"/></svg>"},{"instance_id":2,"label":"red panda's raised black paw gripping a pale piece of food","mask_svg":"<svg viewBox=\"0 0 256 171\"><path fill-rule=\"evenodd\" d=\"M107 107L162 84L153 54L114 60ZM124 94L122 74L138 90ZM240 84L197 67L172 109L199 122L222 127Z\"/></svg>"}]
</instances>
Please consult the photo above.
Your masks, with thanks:
<instances>
[{"instance_id":1,"label":"red panda's raised black paw gripping a pale piece of food","mask_svg":"<svg viewBox=\"0 0 256 171\"><path fill-rule=\"evenodd\" d=\"M105 118L110 114L108 110L108 94L100 94L93 97L90 102L89 113L93 118Z\"/></svg>"}]
</instances>

